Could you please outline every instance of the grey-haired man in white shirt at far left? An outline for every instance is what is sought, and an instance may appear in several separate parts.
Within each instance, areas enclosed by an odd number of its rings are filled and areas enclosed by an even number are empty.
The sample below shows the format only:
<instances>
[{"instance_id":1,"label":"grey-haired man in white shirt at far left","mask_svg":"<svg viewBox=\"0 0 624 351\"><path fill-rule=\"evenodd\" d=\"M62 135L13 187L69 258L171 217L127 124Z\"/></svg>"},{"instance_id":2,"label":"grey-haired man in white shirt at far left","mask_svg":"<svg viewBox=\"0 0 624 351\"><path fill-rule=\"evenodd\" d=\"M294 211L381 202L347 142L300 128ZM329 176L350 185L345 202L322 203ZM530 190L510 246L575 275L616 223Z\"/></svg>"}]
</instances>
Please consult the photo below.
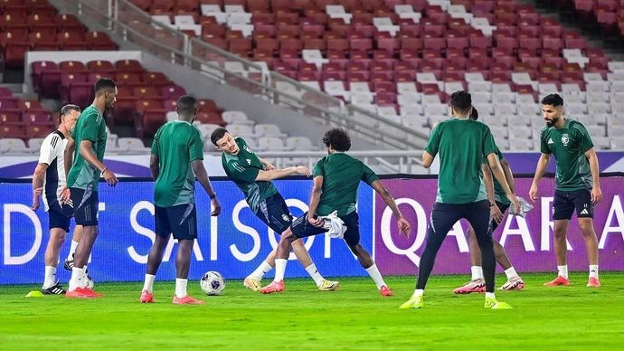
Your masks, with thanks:
<instances>
[{"instance_id":1,"label":"grey-haired man in white shirt at far left","mask_svg":"<svg viewBox=\"0 0 624 351\"><path fill-rule=\"evenodd\" d=\"M79 116L80 107L76 105L65 105L61 108L59 128L43 139L39 164L34 168L32 209L39 209L43 197L43 207L50 221L50 239L45 248L45 276L42 287L42 292L46 295L65 294L65 289L55 279L61 246L65 242L65 235L70 232L70 219L73 214L71 206L61 201L61 192L67 185L64 152ZM77 232L80 235L80 229L74 231L74 239L78 239Z\"/></svg>"}]
</instances>

